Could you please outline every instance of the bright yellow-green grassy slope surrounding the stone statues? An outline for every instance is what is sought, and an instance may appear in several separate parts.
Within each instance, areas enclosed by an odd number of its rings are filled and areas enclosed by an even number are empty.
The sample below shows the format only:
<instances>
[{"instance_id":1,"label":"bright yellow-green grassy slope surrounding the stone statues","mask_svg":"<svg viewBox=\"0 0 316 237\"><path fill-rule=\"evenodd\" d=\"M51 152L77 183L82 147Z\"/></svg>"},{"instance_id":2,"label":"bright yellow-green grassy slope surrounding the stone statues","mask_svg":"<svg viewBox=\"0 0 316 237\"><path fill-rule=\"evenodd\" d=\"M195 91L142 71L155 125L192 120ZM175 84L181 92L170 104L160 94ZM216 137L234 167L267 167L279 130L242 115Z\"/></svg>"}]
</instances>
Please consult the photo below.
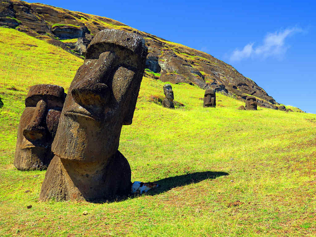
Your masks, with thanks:
<instances>
[{"instance_id":1,"label":"bright yellow-green grassy slope surrounding the stone statues","mask_svg":"<svg viewBox=\"0 0 316 237\"><path fill-rule=\"evenodd\" d=\"M146 77L119 150L132 181L161 188L112 203L38 202L45 171L13 166L24 99L37 83L67 89L82 60L15 30L0 36L0 236L316 236L316 115L240 111L222 94L203 108L204 91L188 84L172 85L185 106L170 110L152 102L164 83Z\"/></svg>"}]
</instances>

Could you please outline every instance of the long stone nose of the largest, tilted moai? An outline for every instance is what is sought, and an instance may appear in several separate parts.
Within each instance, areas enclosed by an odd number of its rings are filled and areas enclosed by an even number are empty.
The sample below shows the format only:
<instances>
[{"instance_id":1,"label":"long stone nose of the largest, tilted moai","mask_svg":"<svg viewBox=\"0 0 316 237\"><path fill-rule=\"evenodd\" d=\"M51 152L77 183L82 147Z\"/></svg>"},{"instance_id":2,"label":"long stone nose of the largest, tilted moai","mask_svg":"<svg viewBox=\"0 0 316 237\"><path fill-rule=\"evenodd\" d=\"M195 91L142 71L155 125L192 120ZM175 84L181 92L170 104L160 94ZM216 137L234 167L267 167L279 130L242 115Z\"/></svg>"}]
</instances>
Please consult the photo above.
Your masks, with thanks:
<instances>
[{"instance_id":1,"label":"long stone nose of the largest, tilted moai","mask_svg":"<svg viewBox=\"0 0 316 237\"><path fill-rule=\"evenodd\" d=\"M97 62L91 67L87 79L80 82L71 90L71 95L82 107L90 112L100 113L110 98L110 89L105 84L111 75L115 53L101 53Z\"/></svg>"}]
</instances>

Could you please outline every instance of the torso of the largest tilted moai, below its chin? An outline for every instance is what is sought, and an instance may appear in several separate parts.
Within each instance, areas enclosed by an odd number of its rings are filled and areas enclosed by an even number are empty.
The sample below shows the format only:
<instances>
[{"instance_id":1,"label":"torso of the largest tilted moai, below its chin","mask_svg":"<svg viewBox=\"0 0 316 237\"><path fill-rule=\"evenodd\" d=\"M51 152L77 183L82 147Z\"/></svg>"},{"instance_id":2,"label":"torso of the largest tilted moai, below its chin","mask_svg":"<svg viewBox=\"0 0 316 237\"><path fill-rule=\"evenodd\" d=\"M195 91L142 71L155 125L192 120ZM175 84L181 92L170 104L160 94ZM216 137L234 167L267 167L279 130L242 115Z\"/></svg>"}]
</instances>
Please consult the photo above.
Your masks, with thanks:
<instances>
[{"instance_id":1,"label":"torso of the largest tilted moai, below its chin","mask_svg":"<svg viewBox=\"0 0 316 237\"><path fill-rule=\"evenodd\" d=\"M131 167L119 151L102 163L52 159L40 200L113 200L131 192Z\"/></svg>"}]
</instances>

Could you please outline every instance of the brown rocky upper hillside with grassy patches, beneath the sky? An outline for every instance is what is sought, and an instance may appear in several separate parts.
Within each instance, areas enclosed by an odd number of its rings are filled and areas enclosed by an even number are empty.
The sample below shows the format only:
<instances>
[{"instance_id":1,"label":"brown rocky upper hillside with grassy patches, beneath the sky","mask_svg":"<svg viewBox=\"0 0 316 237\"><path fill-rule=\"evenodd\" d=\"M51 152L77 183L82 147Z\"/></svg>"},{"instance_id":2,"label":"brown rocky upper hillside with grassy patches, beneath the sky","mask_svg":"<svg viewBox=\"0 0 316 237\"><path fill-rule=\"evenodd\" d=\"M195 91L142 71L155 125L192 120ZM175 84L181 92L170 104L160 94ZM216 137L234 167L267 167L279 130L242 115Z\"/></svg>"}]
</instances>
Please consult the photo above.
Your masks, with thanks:
<instances>
[{"instance_id":1,"label":"brown rocky upper hillside with grassy patches, beneath the sky","mask_svg":"<svg viewBox=\"0 0 316 237\"><path fill-rule=\"evenodd\" d=\"M251 79L213 56L141 32L121 22L41 3L3 0L0 26L15 28L28 35L60 46L83 57L94 34L105 28L132 31L142 35L149 48L147 76L163 82L185 82L200 88L214 88L239 99L257 97L261 106L277 109L279 105Z\"/></svg>"}]
</instances>

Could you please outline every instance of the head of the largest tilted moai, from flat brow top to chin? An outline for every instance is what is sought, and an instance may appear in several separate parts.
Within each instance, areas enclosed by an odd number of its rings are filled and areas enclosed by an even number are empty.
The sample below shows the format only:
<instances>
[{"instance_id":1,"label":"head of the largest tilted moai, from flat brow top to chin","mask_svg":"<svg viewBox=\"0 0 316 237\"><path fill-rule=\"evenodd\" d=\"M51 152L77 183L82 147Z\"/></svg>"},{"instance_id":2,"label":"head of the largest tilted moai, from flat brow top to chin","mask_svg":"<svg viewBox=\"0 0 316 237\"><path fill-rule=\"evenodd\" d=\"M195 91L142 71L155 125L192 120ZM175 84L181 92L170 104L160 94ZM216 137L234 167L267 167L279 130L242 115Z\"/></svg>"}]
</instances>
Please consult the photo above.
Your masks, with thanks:
<instances>
[{"instance_id":1,"label":"head of the largest tilted moai, from flat brow top to chin","mask_svg":"<svg viewBox=\"0 0 316 237\"><path fill-rule=\"evenodd\" d=\"M146 55L135 34L103 30L94 37L70 84L54 154L85 162L115 154L122 125L132 123Z\"/></svg>"}]
</instances>

